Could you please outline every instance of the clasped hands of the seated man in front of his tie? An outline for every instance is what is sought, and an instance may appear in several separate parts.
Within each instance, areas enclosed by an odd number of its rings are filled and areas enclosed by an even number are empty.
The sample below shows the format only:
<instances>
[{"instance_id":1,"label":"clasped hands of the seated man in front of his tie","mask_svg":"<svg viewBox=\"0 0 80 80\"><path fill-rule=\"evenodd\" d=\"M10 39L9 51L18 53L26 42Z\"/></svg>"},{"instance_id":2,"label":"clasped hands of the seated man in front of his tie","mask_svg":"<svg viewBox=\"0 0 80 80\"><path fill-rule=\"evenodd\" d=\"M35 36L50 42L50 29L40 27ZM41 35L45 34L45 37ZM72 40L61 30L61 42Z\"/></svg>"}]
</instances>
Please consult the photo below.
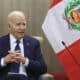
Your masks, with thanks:
<instances>
[{"instance_id":1,"label":"clasped hands of the seated man in front of his tie","mask_svg":"<svg viewBox=\"0 0 80 80\"><path fill-rule=\"evenodd\" d=\"M11 63L11 62L22 62L25 63L26 58L23 57L20 51L8 51L9 54L4 57L4 63Z\"/></svg>"}]
</instances>

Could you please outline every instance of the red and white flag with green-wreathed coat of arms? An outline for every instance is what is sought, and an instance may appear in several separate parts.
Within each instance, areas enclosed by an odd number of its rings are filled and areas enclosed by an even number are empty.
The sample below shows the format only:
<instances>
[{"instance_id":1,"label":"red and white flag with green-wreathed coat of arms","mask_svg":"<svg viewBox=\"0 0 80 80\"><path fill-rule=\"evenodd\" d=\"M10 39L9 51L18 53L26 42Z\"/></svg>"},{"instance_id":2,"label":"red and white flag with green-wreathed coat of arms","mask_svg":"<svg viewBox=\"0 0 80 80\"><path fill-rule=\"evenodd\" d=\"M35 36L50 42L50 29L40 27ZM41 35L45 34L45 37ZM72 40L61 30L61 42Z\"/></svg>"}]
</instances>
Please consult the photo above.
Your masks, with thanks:
<instances>
[{"instance_id":1,"label":"red and white flag with green-wreathed coat of arms","mask_svg":"<svg viewBox=\"0 0 80 80\"><path fill-rule=\"evenodd\" d=\"M80 80L80 0L53 0L42 29L69 80Z\"/></svg>"}]
</instances>

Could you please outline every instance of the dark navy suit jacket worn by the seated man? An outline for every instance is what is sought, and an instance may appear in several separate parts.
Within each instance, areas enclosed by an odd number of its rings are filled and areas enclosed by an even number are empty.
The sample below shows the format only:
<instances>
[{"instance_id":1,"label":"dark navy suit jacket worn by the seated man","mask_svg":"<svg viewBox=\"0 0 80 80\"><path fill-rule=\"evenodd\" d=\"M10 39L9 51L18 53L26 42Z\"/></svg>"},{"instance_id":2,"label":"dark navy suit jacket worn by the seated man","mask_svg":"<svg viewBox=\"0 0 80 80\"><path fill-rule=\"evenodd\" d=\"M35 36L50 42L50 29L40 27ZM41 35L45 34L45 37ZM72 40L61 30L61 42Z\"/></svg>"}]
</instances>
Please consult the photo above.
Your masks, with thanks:
<instances>
[{"instance_id":1,"label":"dark navy suit jacket worn by the seated man","mask_svg":"<svg viewBox=\"0 0 80 80\"><path fill-rule=\"evenodd\" d=\"M47 71L39 41L30 36L25 36L23 43L24 56L29 58L29 65L25 67L26 72L29 78L36 80L40 74ZM0 37L0 80L4 80L12 65L12 63L9 63L7 66L1 67L1 58L8 54L8 50L10 50L10 37L9 35L5 35Z\"/></svg>"}]
</instances>

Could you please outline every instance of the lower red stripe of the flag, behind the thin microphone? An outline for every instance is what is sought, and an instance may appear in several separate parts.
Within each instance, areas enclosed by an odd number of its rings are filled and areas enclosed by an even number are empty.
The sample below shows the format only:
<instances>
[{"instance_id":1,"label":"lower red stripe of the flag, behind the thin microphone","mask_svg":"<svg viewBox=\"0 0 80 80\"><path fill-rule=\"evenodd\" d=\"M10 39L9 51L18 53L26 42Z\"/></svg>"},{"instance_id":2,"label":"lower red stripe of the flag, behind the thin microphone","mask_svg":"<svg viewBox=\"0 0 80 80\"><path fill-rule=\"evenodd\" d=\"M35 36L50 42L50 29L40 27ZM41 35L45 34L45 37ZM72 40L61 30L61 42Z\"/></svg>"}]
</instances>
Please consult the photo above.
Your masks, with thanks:
<instances>
[{"instance_id":1,"label":"lower red stripe of the flag, behind the thin microphone","mask_svg":"<svg viewBox=\"0 0 80 80\"><path fill-rule=\"evenodd\" d=\"M57 56L70 80L80 80L80 40L65 48Z\"/></svg>"}]
</instances>

